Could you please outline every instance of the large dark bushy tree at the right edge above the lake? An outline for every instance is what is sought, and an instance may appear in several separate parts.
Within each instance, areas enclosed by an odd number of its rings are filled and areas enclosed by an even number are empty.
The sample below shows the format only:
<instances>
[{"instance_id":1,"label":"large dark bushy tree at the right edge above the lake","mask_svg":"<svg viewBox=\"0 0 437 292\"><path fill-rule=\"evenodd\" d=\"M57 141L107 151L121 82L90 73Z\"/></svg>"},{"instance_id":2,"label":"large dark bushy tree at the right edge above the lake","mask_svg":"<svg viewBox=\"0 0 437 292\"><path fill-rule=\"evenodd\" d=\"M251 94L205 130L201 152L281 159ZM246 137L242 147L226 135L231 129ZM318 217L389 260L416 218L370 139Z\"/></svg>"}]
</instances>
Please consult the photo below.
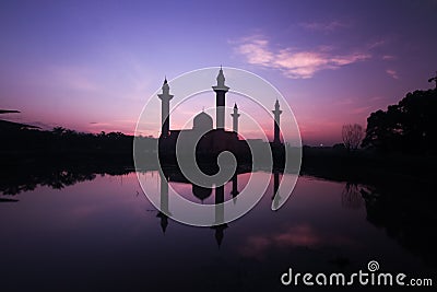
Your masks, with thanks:
<instances>
[{"instance_id":1,"label":"large dark bushy tree at the right edge above the lake","mask_svg":"<svg viewBox=\"0 0 437 292\"><path fill-rule=\"evenodd\" d=\"M386 152L436 152L437 143L437 91L409 93L387 112L371 113L367 118L363 147Z\"/></svg>"}]
</instances>

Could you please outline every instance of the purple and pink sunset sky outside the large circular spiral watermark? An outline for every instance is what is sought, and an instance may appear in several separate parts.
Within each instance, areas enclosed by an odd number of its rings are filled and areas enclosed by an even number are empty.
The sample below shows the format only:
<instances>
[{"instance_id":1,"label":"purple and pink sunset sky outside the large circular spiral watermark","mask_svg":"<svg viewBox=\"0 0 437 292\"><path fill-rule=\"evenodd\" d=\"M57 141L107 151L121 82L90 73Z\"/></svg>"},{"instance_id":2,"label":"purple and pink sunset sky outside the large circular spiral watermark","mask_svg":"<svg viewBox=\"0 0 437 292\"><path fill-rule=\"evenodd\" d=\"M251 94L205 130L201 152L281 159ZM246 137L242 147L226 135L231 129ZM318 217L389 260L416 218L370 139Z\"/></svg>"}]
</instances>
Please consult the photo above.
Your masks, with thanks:
<instances>
[{"instance_id":1,"label":"purple and pink sunset sky outside the large circular spiral watermark","mask_svg":"<svg viewBox=\"0 0 437 292\"><path fill-rule=\"evenodd\" d=\"M434 86L435 15L436 0L0 1L0 108L21 112L2 118L133 133L164 77L223 65L272 83L305 144L333 144Z\"/></svg>"}]
</instances>

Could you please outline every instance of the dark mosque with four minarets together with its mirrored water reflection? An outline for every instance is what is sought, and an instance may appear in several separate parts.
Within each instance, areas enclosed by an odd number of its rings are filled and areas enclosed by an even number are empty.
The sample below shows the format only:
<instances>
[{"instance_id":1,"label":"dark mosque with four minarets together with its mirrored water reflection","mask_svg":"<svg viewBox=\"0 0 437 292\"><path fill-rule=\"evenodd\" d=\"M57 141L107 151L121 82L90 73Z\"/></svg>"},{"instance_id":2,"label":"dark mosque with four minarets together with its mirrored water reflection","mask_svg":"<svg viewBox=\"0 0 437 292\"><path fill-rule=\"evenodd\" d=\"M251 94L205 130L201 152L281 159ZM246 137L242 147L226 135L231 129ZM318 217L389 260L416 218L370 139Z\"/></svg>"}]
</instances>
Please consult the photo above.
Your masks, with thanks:
<instances>
[{"instance_id":1,"label":"dark mosque with four minarets together with its mirrored water reflection","mask_svg":"<svg viewBox=\"0 0 437 292\"><path fill-rule=\"evenodd\" d=\"M184 156L184 151L192 151L196 149L196 155L198 161L209 162L208 170L211 170L211 162L216 162L217 155L223 151L229 151L234 154L237 162L240 164L247 165L249 161L251 161L250 140L240 139L238 136L238 118L240 114L238 114L237 104L234 105L233 113L231 116L233 117L233 130L225 130L225 108L226 108L226 93L229 91L229 87L225 85L225 77L223 73L223 69L221 68L218 71L218 75L216 78L217 84L212 86L215 92L215 115L216 115L216 124L214 129L213 118L204 112L199 113L193 118L193 125L191 129L179 129L172 130L169 127L169 102L174 97L170 94L170 89L167 80L164 80L164 84L162 86L162 93L158 94L160 100L162 101L162 129L161 136L158 139L158 152L160 152L160 161L163 164L165 162L169 162L172 167L163 167L163 172L160 173L160 212L156 215L160 218L162 231L165 233L168 226L168 215L172 213L169 208L169 197L168 197L168 183L182 183L182 184L191 184L184 174L180 173L180 170L177 166L176 160L176 144L181 143L181 156ZM272 150L273 163L277 160L283 160L283 151L284 144L281 142L281 131L280 131L280 116L282 110L280 108L279 101L276 100L274 104L274 109L272 110L274 114L273 127L274 127L274 138L272 142L269 142L270 148ZM260 139L255 139L257 142L260 142ZM255 141L253 140L253 141ZM262 142L264 143L264 142ZM255 143L256 144L256 143ZM253 143L251 144L251 147ZM178 155L179 156L179 155ZM238 175L250 172L250 168L247 167L237 167L236 173L229 179L232 182L232 198L234 203L237 202L238 191ZM273 203L277 206L280 201L279 196L279 185L280 185L280 171L277 168L272 170L273 174L273 195L272 200ZM199 199L201 202L208 199L214 192L214 202L215 202L215 224L211 226L214 230L214 237L218 245L222 244L224 237L224 231L228 227L227 223L224 222L224 206L225 201L225 187L222 186L211 186L211 187L202 187L196 184L191 184L191 192L193 197ZM276 196L275 196L276 194Z\"/></svg>"}]
</instances>

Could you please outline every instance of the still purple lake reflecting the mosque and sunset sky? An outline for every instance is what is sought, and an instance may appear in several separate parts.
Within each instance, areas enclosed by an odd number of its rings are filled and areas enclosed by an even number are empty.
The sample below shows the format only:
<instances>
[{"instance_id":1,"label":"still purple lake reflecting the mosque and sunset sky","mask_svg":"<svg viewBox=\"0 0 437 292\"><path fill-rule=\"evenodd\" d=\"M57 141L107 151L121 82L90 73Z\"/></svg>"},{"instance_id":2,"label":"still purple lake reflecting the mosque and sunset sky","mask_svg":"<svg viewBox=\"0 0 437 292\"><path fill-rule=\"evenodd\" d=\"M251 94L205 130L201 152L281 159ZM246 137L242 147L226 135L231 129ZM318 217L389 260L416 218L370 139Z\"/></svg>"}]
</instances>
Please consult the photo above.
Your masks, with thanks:
<instances>
[{"instance_id":1,"label":"still purple lake reflecting the mosque and sunset sky","mask_svg":"<svg viewBox=\"0 0 437 292\"><path fill-rule=\"evenodd\" d=\"M3 195L1 290L308 291L283 287L281 276L288 268L352 273L367 270L370 260L383 271L435 277L434 223L417 219L418 212L403 214L409 207L385 207L391 201L381 200L375 187L300 176L288 201L273 212L273 175L240 174L236 187L244 188L250 175L270 177L261 201L220 227L193 227L160 214L134 172L74 176L69 184L45 182ZM156 171L139 176L158 192ZM194 202L213 201L213 189L192 194L189 184L169 185ZM238 203L233 187L225 185L225 200Z\"/></svg>"}]
</instances>

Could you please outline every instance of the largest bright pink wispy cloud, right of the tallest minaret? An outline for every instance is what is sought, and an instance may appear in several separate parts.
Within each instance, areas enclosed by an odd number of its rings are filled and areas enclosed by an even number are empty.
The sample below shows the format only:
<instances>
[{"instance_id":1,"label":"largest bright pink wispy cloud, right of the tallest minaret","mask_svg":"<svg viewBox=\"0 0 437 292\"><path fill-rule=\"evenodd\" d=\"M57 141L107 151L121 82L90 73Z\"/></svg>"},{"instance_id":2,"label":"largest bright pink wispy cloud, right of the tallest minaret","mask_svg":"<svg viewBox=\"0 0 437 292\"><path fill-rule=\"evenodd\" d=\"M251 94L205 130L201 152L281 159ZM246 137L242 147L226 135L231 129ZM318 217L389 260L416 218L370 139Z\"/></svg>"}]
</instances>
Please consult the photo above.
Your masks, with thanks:
<instances>
[{"instance_id":1,"label":"largest bright pink wispy cloud, right of the tallest minaret","mask_svg":"<svg viewBox=\"0 0 437 292\"><path fill-rule=\"evenodd\" d=\"M245 37L240 42L234 42L234 44L236 45L235 51L245 56L247 62L279 69L291 79L311 78L320 70L334 70L370 58L370 55L359 51L334 55L329 46L314 50L295 48L273 50L269 40L262 36Z\"/></svg>"}]
</instances>

